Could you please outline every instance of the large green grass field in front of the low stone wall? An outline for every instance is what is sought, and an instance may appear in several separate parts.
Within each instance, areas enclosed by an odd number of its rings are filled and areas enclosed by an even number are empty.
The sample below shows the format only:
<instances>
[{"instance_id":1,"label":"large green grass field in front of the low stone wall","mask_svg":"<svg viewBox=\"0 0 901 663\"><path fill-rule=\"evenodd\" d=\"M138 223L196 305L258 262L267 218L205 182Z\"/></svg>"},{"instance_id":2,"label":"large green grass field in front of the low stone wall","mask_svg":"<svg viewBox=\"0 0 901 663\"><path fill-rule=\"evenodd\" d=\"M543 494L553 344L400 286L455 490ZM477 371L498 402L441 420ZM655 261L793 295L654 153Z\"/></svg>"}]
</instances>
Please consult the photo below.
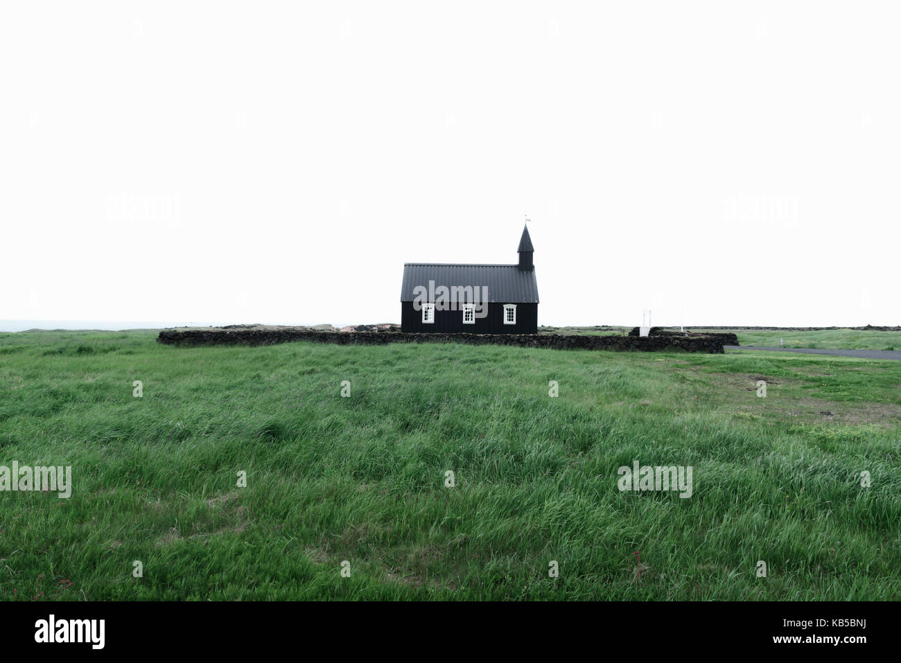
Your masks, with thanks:
<instances>
[{"instance_id":1,"label":"large green grass field in front of the low stone wall","mask_svg":"<svg viewBox=\"0 0 901 663\"><path fill-rule=\"evenodd\" d=\"M14 460L6 600L901 597L898 361L0 334Z\"/></svg>"}]
</instances>

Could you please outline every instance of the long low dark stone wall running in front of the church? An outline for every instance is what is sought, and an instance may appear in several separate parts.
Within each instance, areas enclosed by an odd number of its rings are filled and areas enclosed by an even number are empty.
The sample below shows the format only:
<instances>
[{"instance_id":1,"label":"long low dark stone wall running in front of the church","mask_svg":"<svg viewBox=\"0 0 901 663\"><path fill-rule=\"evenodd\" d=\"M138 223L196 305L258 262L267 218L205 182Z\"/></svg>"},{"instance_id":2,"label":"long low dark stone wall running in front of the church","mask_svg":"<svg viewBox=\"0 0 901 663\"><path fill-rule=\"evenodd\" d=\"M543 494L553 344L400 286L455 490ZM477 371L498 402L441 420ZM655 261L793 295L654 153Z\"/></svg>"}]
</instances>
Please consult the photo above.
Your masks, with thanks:
<instances>
[{"instance_id":1,"label":"long low dark stone wall running in front of the church","mask_svg":"<svg viewBox=\"0 0 901 663\"><path fill-rule=\"evenodd\" d=\"M400 332L310 332L301 330L186 330L159 332L157 342L166 345L274 345L291 341L314 341L339 345L386 345L387 343L445 342L473 345L513 345L520 348L554 350L623 350L661 352L724 353L724 342L714 336L571 336L560 334L445 334Z\"/></svg>"}]
</instances>

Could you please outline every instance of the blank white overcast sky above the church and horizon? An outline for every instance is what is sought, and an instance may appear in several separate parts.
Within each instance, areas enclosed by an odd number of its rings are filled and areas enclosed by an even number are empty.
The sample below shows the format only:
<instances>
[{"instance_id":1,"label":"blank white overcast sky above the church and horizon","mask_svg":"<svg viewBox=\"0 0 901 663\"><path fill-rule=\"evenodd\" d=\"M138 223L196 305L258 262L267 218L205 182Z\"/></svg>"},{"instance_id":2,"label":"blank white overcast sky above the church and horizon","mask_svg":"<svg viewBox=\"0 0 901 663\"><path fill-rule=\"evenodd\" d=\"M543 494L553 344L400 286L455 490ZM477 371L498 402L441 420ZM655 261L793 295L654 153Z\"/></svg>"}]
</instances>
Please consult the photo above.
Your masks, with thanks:
<instances>
[{"instance_id":1,"label":"blank white overcast sky above the church and horizon","mask_svg":"<svg viewBox=\"0 0 901 663\"><path fill-rule=\"evenodd\" d=\"M4 2L0 320L901 323L901 6Z\"/></svg>"}]
</instances>

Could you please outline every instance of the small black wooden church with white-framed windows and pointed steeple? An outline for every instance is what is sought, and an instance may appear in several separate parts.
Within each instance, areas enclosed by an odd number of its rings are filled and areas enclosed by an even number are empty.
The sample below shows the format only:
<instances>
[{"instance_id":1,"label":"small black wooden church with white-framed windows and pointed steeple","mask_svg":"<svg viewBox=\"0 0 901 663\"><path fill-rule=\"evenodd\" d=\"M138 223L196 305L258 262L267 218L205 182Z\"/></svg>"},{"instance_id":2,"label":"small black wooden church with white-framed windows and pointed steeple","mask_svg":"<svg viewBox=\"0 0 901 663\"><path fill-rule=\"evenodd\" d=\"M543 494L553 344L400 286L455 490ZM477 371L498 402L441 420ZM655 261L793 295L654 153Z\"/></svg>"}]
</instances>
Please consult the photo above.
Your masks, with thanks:
<instances>
[{"instance_id":1,"label":"small black wooden church with white-framed windows and pointed steeple","mask_svg":"<svg viewBox=\"0 0 901 663\"><path fill-rule=\"evenodd\" d=\"M538 284L528 227L517 251L515 265L405 263L401 331L537 333Z\"/></svg>"}]
</instances>

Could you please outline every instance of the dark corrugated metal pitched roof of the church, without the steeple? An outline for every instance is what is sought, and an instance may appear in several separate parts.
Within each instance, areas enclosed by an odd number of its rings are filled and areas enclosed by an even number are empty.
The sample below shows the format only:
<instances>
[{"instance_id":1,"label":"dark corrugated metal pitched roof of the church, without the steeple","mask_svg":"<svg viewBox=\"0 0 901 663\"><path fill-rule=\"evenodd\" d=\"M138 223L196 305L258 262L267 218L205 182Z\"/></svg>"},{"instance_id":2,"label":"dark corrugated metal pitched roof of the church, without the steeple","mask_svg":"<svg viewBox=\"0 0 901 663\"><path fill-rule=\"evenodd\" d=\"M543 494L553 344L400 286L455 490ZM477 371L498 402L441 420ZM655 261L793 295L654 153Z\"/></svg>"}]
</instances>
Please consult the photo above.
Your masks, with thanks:
<instances>
[{"instance_id":1,"label":"dark corrugated metal pitched roof of the church, without the steeple","mask_svg":"<svg viewBox=\"0 0 901 663\"><path fill-rule=\"evenodd\" d=\"M429 281L438 286L488 288L488 302L499 304L538 304L535 271L522 271L516 265L440 265L407 262L400 301L414 301L414 287L428 289Z\"/></svg>"}]
</instances>

